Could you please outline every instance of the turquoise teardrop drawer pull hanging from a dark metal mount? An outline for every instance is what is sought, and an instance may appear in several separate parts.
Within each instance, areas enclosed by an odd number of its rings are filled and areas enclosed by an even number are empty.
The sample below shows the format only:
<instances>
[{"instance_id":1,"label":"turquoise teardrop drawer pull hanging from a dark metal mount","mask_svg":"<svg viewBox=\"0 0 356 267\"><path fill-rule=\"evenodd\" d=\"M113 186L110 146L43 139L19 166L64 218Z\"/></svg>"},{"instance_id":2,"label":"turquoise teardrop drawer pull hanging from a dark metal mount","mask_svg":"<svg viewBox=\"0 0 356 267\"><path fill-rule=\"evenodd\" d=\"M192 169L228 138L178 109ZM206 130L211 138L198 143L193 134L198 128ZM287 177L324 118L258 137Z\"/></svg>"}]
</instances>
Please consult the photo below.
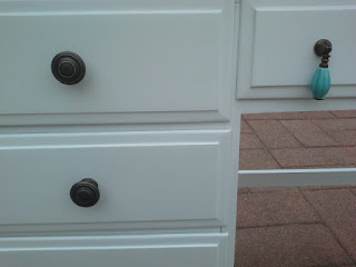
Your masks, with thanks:
<instances>
[{"instance_id":1,"label":"turquoise teardrop drawer pull hanging from a dark metal mount","mask_svg":"<svg viewBox=\"0 0 356 267\"><path fill-rule=\"evenodd\" d=\"M333 50L332 42L326 39L318 40L314 46L316 55L322 56L322 63L316 70L312 79L312 92L316 100L324 100L326 95L329 92L332 86L332 79L328 68L329 53Z\"/></svg>"}]
</instances>

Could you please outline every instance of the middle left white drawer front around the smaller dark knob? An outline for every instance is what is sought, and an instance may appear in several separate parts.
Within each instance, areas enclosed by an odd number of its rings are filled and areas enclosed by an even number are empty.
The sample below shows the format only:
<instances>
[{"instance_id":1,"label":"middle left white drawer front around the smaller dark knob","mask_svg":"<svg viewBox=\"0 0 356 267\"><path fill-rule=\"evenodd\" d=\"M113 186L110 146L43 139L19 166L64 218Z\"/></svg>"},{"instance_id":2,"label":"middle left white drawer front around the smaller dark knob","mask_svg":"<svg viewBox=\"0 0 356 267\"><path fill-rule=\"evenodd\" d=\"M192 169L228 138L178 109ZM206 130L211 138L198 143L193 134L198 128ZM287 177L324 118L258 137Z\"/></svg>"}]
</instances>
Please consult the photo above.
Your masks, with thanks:
<instances>
[{"instance_id":1,"label":"middle left white drawer front around the smaller dark knob","mask_svg":"<svg viewBox=\"0 0 356 267\"><path fill-rule=\"evenodd\" d=\"M2 136L0 226L221 226L229 134ZM71 187L83 178L98 182L100 198L92 207L77 206L70 197ZM93 228L106 229L100 224Z\"/></svg>"}]
</instances>

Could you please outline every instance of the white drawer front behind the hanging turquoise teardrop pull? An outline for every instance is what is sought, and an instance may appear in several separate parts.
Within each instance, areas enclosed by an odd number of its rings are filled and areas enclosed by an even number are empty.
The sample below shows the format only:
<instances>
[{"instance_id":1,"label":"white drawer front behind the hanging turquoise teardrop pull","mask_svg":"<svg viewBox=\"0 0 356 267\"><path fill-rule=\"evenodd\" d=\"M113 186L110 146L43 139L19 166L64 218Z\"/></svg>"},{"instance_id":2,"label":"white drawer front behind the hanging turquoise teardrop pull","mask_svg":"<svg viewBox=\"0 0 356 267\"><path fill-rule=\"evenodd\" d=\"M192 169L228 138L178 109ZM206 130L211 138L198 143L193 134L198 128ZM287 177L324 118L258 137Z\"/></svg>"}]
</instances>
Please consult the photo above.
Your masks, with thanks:
<instances>
[{"instance_id":1,"label":"white drawer front behind the hanging turquoise teardrop pull","mask_svg":"<svg viewBox=\"0 0 356 267\"><path fill-rule=\"evenodd\" d=\"M312 98L319 39L333 43L328 98L356 97L355 24L355 1L244 1L237 97Z\"/></svg>"}]
</instances>

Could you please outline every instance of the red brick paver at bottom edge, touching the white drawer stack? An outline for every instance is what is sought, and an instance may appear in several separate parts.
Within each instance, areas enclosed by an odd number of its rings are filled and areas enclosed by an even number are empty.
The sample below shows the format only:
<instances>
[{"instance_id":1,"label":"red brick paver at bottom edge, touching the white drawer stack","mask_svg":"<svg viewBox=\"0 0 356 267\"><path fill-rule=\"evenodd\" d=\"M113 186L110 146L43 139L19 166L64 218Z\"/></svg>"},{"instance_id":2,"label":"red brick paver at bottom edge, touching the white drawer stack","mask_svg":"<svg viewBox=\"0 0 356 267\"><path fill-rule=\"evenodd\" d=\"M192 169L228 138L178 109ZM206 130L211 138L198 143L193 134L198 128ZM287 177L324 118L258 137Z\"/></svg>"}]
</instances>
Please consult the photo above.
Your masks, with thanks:
<instances>
[{"instance_id":1,"label":"red brick paver at bottom edge, touching the white drawer stack","mask_svg":"<svg viewBox=\"0 0 356 267\"><path fill-rule=\"evenodd\" d=\"M237 230L236 267L326 267L353 264L324 225Z\"/></svg>"}]
</instances>

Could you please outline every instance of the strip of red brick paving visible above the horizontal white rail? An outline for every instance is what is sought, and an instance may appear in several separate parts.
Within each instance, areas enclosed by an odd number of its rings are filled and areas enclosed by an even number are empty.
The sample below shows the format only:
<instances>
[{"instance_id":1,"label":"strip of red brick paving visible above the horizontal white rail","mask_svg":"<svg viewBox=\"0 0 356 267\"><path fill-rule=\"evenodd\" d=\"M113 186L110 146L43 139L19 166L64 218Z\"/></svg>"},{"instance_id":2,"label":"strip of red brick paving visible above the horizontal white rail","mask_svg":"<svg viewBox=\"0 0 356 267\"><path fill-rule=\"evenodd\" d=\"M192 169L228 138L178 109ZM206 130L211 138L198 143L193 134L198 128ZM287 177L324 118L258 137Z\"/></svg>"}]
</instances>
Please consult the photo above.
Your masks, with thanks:
<instances>
[{"instance_id":1,"label":"strip of red brick paving visible above the horizontal white rail","mask_svg":"<svg viewBox=\"0 0 356 267\"><path fill-rule=\"evenodd\" d=\"M354 110L243 115L241 126L241 149L263 146L266 151L254 152L254 162L250 157L245 160L249 155L245 151L240 169L356 166Z\"/></svg>"}]
</instances>

